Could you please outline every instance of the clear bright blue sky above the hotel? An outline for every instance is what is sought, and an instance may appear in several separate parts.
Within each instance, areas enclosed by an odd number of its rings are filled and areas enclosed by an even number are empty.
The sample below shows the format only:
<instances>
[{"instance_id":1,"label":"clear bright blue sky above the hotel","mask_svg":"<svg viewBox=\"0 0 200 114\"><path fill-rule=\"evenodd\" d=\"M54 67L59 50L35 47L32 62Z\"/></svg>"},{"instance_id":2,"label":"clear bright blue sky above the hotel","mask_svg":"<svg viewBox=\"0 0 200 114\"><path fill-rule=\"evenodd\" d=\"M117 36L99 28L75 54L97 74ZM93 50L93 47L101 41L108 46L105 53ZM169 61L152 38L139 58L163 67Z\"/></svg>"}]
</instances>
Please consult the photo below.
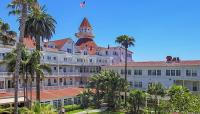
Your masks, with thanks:
<instances>
[{"instance_id":1,"label":"clear bright blue sky above the hotel","mask_svg":"<svg viewBox=\"0 0 200 114\"><path fill-rule=\"evenodd\" d=\"M95 42L117 46L117 36L136 40L130 47L135 61L165 60L171 55L182 60L200 60L200 0L39 0L57 21L52 40L72 38L84 17L93 26ZM18 32L16 16L0 0L0 18Z\"/></svg>"}]
</instances>

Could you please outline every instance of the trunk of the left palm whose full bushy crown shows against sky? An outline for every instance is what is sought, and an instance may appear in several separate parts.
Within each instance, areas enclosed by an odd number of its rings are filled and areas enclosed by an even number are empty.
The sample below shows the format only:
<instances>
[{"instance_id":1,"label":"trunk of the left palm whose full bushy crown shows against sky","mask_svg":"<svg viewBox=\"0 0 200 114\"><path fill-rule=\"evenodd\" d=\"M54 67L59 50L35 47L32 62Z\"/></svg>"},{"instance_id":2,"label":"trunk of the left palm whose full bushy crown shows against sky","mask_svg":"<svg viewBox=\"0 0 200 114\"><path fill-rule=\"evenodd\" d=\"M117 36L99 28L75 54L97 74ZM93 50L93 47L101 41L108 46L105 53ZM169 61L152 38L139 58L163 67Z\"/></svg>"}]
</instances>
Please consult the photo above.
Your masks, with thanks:
<instances>
[{"instance_id":1,"label":"trunk of the left palm whose full bushy crown shows against sky","mask_svg":"<svg viewBox=\"0 0 200 114\"><path fill-rule=\"evenodd\" d=\"M40 37L36 37L36 50L40 51ZM37 58L37 63L40 64L40 56ZM40 102L40 74L36 72L36 101Z\"/></svg>"}]
</instances>

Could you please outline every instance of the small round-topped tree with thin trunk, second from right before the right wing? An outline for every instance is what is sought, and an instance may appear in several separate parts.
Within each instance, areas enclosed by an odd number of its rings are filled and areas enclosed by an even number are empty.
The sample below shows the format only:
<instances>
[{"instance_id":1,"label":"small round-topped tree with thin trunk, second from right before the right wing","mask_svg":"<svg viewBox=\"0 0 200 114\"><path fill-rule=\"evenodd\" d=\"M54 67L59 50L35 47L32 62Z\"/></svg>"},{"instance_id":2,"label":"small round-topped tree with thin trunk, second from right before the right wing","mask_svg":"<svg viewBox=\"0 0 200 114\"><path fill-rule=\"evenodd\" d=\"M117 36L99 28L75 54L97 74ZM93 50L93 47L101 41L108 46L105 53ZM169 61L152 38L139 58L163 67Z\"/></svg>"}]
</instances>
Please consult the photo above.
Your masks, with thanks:
<instances>
[{"instance_id":1,"label":"small round-topped tree with thin trunk, second from right before the right wing","mask_svg":"<svg viewBox=\"0 0 200 114\"><path fill-rule=\"evenodd\" d=\"M166 94L165 88L161 83L151 83L148 86L147 93L153 97L153 107L156 114L159 106L158 96L163 97Z\"/></svg>"}]
</instances>

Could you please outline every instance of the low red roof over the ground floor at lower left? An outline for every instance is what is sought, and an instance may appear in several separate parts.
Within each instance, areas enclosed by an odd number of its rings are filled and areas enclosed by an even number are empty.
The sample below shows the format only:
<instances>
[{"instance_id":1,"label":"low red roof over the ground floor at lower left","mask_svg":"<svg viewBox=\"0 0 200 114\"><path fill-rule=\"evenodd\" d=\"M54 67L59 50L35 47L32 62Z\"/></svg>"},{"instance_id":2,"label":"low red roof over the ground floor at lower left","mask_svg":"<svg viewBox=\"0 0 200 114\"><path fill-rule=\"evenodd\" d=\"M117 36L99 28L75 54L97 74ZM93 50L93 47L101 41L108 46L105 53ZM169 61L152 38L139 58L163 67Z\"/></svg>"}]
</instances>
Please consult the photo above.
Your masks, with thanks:
<instances>
[{"instance_id":1,"label":"low red roof over the ground floor at lower left","mask_svg":"<svg viewBox=\"0 0 200 114\"><path fill-rule=\"evenodd\" d=\"M41 101L54 100L64 97L74 97L84 91L84 88L64 88L56 90L42 90L40 92ZM23 96L23 92L19 92L19 96ZM14 92L0 93L0 98L14 97ZM33 99L36 99L36 92L32 92Z\"/></svg>"}]
</instances>

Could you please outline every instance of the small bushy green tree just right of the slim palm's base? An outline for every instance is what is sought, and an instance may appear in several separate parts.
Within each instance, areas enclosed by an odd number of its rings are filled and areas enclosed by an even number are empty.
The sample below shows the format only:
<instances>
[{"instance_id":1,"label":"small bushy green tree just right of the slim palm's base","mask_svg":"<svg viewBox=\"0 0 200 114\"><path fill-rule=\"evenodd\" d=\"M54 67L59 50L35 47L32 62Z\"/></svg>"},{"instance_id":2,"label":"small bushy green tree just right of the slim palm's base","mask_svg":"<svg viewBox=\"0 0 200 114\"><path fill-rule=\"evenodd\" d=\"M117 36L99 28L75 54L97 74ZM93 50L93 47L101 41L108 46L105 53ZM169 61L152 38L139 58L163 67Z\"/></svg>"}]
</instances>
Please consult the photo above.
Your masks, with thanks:
<instances>
[{"instance_id":1,"label":"small bushy green tree just right of the slim palm's base","mask_svg":"<svg viewBox=\"0 0 200 114\"><path fill-rule=\"evenodd\" d=\"M140 114L140 108L144 106L146 99L145 92L141 90L131 90L129 92L128 103L130 112L133 114Z\"/></svg>"}]
</instances>

